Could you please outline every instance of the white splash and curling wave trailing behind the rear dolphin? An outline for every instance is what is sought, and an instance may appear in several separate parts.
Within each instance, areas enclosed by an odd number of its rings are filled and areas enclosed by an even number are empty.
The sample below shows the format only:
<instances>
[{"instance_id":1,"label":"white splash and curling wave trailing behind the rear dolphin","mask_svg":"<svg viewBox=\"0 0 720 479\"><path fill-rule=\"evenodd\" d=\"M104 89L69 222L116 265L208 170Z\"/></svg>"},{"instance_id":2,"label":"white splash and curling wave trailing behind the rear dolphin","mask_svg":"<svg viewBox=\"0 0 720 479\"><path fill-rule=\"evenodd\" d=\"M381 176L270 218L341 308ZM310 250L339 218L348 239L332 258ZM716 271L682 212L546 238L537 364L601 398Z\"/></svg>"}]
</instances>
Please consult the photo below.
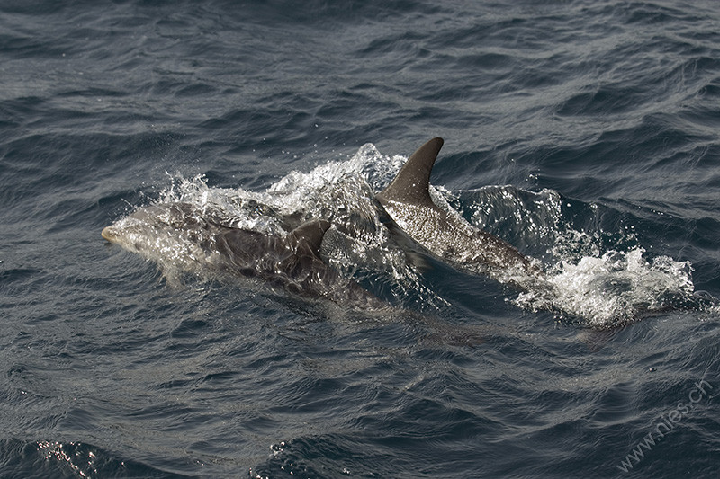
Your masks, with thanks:
<instances>
[{"instance_id":1,"label":"white splash and curling wave trailing behind the rear dolphin","mask_svg":"<svg viewBox=\"0 0 720 479\"><path fill-rule=\"evenodd\" d=\"M509 186L462 194L454 206L475 226L542 258L543 279L511 300L527 310L610 328L697 303L691 264L649 254L609 208Z\"/></svg>"}]
</instances>

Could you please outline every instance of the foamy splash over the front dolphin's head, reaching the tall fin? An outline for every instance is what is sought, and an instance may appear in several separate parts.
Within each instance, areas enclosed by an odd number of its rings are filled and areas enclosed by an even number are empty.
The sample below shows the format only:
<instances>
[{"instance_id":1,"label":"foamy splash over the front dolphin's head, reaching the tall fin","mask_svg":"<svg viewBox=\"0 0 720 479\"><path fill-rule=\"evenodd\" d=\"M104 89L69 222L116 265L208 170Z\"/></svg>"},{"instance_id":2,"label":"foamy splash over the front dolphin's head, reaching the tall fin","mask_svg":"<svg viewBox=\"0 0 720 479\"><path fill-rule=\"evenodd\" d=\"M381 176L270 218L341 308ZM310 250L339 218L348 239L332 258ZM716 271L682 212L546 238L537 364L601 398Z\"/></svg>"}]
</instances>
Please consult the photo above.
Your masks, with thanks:
<instances>
[{"instance_id":1,"label":"foamy splash over the front dolphin's head, reaching the tall fin","mask_svg":"<svg viewBox=\"0 0 720 479\"><path fill-rule=\"evenodd\" d=\"M396 305L400 302L398 306L407 306L405 297L422 297L425 305L434 307L442 299L423 286L374 200L370 182L391 174L392 162L374 146L364 146L345 161L322 164L309 173L291 172L265 191L212 187L202 175L171 177L156 201L106 228L103 235L156 262L168 282L182 284L188 275L202 281L222 279L211 225L284 237L310 219L323 218L332 227L323 237L320 255L342 277ZM149 214L143 215L145 211Z\"/></svg>"}]
</instances>

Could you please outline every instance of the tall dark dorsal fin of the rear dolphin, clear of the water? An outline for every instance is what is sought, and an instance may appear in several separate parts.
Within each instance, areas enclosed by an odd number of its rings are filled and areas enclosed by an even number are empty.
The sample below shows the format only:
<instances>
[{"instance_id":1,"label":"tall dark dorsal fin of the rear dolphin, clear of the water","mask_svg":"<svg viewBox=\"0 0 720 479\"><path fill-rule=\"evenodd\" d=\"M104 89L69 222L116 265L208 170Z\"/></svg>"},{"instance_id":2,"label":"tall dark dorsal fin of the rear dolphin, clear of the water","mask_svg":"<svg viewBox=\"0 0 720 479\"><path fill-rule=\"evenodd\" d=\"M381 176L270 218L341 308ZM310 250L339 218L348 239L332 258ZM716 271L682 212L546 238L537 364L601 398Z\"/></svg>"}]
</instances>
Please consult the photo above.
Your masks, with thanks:
<instances>
[{"instance_id":1,"label":"tall dark dorsal fin of the rear dolphin, clear of the water","mask_svg":"<svg viewBox=\"0 0 720 479\"><path fill-rule=\"evenodd\" d=\"M429 191L430 172L442 147L443 138L439 137L420 146L402 165L400 173L392 180L390 186L377 195L378 199L434 206Z\"/></svg>"}]
</instances>

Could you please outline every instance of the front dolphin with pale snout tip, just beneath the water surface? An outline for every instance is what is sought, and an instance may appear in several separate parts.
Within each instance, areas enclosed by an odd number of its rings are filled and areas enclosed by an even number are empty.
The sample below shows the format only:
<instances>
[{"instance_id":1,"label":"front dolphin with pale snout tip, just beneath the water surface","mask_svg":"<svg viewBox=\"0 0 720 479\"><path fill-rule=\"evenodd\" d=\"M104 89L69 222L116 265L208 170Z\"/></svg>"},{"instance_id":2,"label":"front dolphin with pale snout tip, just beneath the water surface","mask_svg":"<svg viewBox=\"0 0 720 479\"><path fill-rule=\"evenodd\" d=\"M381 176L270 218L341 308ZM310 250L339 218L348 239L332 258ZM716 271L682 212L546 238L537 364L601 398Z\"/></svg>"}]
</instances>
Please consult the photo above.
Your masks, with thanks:
<instances>
[{"instance_id":1,"label":"front dolphin with pale snout tip, just beneath the water surface","mask_svg":"<svg viewBox=\"0 0 720 479\"><path fill-rule=\"evenodd\" d=\"M331 226L315 219L286 235L265 235L225 226L219 217L188 203L139 208L103 229L107 241L150 259L182 257L243 278L261 279L301 297L324 297L341 305L383 309L387 305L320 258Z\"/></svg>"}]
</instances>

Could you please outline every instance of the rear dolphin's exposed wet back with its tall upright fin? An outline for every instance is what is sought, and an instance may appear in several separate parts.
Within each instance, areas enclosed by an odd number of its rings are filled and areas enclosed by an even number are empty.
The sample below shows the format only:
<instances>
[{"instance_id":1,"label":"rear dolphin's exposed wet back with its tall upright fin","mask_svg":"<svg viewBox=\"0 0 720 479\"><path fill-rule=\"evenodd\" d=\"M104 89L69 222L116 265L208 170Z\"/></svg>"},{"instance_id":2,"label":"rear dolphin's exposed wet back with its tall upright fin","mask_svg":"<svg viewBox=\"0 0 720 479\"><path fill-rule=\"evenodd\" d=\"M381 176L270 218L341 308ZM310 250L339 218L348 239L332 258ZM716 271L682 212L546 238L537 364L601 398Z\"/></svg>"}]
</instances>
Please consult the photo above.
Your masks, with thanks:
<instances>
[{"instance_id":1,"label":"rear dolphin's exposed wet back with its tall upright fin","mask_svg":"<svg viewBox=\"0 0 720 479\"><path fill-rule=\"evenodd\" d=\"M475 228L457 212L439 208L430 197L430 173L443 139L420 146L376 199L410 238L453 267L487 274L522 287L539 269L497 236Z\"/></svg>"}]
</instances>

